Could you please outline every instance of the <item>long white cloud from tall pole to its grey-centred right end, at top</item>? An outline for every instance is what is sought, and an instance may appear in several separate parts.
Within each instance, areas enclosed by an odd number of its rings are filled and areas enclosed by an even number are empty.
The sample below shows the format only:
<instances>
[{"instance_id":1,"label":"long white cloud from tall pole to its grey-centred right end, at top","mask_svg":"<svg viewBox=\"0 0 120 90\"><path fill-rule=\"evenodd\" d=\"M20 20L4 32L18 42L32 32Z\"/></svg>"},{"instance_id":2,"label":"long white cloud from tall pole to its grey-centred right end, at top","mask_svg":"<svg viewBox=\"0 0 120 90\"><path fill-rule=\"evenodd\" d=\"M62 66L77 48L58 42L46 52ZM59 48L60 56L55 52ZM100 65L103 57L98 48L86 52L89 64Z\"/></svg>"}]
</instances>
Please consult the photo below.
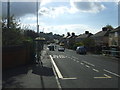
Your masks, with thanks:
<instances>
[{"instance_id":1,"label":"long white cloud from tall pole to its grey-centred right end, at top","mask_svg":"<svg viewBox=\"0 0 120 90\"><path fill-rule=\"evenodd\" d=\"M69 13L69 14L74 14L76 12L99 13L100 11L106 8L100 2L89 2L89 1L88 2L80 2L80 1L76 2L75 0L70 1L70 7L62 6L62 5L59 7L45 7L44 4L42 4L39 10L39 13L40 15L48 16L51 18L55 18L64 13Z\"/></svg>"}]
</instances>

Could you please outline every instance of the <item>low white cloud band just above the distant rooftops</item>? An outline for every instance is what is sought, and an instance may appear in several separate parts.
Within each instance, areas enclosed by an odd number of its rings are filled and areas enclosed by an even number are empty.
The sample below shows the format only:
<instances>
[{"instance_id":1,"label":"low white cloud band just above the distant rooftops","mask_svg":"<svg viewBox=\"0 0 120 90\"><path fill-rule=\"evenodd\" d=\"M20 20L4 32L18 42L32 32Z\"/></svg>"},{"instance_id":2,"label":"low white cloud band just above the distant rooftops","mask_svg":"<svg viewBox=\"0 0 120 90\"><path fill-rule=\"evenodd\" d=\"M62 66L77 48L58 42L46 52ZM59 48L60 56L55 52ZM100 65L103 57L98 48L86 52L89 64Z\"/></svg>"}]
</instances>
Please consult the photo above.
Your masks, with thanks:
<instances>
[{"instance_id":1,"label":"low white cloud band just above the distant rooftops","mask_svg":"<svg viewBox=\"0 0 120 90\"><path fill-rule=\"evenodd\" d=\"M85 31L89 31L90 33L96 33L97 31L93 27L83 24L68 24L68 25L57 25L57 26L45 26L44 32L49 33L53 32L54 34L67 34L67 32L74 32L76 35L83 34Z\"/></svg>"}]
</instances>

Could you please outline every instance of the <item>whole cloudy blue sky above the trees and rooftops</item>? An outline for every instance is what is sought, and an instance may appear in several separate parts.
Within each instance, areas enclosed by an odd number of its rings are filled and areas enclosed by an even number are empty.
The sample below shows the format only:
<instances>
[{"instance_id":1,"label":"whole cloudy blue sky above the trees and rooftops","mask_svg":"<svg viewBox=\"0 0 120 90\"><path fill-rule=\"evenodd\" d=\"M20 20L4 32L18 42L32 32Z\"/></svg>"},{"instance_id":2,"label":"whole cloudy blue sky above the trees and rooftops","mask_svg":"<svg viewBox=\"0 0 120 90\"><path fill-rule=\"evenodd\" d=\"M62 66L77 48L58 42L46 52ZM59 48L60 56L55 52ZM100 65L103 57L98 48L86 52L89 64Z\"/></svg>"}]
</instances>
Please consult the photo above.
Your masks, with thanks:
<instances>
[{"instance_id":1,"label":"whole cloudy blue sky above the trees and rooftops","mask_svg":"<svg viewBox=\"0 0 120 90\"><path fill-rule=\"evenodd\" d=\"M117 2L51 1L39 2L39 31L76 35L85 31L97 33L106 25L118 27ZM2 3L2 17L6 17L6 3ZM36 2L11 2L11 15L20 19L22 28L36 30Z\"/></svg>"}]
</instances>

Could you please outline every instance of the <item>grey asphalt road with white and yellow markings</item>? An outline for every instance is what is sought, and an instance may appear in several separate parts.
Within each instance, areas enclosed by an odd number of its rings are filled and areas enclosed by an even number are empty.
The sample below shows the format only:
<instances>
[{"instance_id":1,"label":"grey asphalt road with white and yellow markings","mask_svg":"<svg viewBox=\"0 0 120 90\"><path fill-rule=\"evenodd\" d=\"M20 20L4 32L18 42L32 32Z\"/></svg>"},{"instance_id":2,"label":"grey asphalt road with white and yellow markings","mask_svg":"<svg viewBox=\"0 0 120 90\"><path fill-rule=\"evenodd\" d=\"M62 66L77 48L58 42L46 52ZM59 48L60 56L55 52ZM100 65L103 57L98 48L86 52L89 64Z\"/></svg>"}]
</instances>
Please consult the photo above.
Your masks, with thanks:
<instances>
[{"instance_id":1,"label":"grey asphalt road with white and yellow markings","mask_svg":"<svg viewBox=\"0 0 120 90\"><path fill-rule=\"evenodd\" d=\"M117 58L69 49L49 51L49 56L60 88L118 88Z\"/></svg>"}]
</instances>

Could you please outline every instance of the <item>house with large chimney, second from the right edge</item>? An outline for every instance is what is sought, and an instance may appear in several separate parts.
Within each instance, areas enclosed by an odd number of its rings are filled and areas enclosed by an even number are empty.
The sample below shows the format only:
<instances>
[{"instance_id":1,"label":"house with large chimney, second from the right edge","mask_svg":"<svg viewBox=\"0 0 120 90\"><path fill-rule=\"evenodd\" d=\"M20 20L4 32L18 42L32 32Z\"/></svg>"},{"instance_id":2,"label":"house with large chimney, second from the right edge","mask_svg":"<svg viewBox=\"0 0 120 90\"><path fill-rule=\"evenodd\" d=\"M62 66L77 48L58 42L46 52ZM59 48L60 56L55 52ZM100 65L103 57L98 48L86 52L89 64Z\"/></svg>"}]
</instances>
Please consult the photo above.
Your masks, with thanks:
<instances>
[{"instance_id":1,"label":"house with large chimney, second from the right edge","mask_svg":"<svg viewBox=\"0 0 120 90\"><path fill-rule=\"evenodd\" d=\"M109 32L111 29L107 27L103 27L102 31L97 32L96 34L92 35L91 38L95 42L94 52L95 53L102 53L102 49L107 49L109 47Z\"/></svg>"}]
</instances>

